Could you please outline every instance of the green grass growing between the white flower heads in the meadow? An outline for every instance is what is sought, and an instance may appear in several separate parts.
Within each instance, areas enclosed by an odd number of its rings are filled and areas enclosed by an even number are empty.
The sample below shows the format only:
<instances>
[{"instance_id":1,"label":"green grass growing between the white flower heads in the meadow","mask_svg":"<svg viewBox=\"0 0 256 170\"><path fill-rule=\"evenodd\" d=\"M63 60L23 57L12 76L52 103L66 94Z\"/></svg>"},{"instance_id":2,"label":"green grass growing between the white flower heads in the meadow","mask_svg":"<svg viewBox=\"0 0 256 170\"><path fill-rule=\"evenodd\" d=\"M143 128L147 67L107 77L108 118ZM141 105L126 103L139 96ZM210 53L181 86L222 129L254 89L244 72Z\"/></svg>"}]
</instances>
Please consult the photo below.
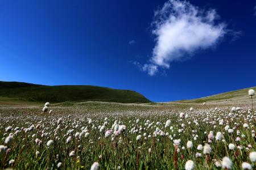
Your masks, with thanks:
<instances>
[{"instance_id":1,"label":"green grass growing between the white flower heads in the meadow","mask_svg":"<svg viewBox=\"0 0 256 170\"><path fill-rule=\"evenodd\" d=\"M71 105L72 104L72 105ZM65 105L65 107L63 107ZM68 106L71 105L71 106ZM168 104L168 105L150 105L150 104L118 104L118 103L69 103L50 105L53 114L42 114L42 107L1 107L0 106L0 145L10 148L9 154L4 151L0 154L0 169L89 169L93 162L100 164L100 169L175 169L175 146L173 139L180 139L180 152L177 153L177 168L184 169L187 160L195 163L195 169L220 169L214 163L216 160L222 160L224 156L228 156L232 162L232 169L241 169L243 162L250 162L249 154L256 150L255 138L251 135L255 125L255 119L246 120L249 114L248 108L243 108L241 112L234 112L234 116L229 116L230 108L221 107L220 110L214 111L213 105L196 105L197 108L193 112L189 112L187 104ZM180 121L179 113L189 114L188 118ZM63 122L59 124L57 130L57 120L62 117ZM98 126L105 124L104 118L108 117L108 124L104 131L100 133ZM236 117L236 118L233 118ZM86 118L92 118L92 124L88 123ZM137 118L139 121L137 122ZM208 122L204 121L208 118ZM224 120L224 125L212 124L216 118ZM166 120L171 120L171 126L165 128ZM118 120L119 125L126 125L126 130L118 136L105 137L105 131L112 128L114 121ZM146 121L149 120L152 128L148 128ZM195 124L194 121L198 124ZM156 125L156 122L160 125ZM229 134L224 130L226 123L229 122L230 128L240 130L245 135L241 137L241 141L237 142L236 130ZM241 124L239 124L241 122ZM243 123L250 124L249 129L243 128ZM238 124L236 124L238 123ZM28 131L21 128L29 128L31 125L39 125L39 128ZM185 128L181 128L181 124ZM76 127L77 125L77 127ZM216 127L214 128L214 125ZM6 132L8 126L13 126L12 130ZM5 138L10 133L15 133L14 128L19 127L19 132L14 135L13 141L4 143ZM76 132L81 133L81 128L88 128L89 136L81 135L76 138ZM153 135L156 127L163 130L169 135ZM141 129L132 132L131 129ZM67 132L74 129L72 134ZM179 133L179 129L183 129ZM196 130L196 132L192 131ZM204 131L207 133L205 134ZM208 141L208 133L213 131L214 135L217 131L222 131L225 142L213 140L210 144L212 152L207 156L203 151L197 150L198 145L204 145ZM143 137L146 133L146 139ZM45 134L45 135L42 135ZM66 142L68 136L72 139ZM137 135L142 135L141 140L136 141ZM195 140L193 137L198 135ZM59 139L56 139L58 137ZM100 137L100 138L99 138ZM173 137L173 139L171 139ZM42 144L36 145L35 139L38 138ZM53 140L51 146L47 146L49 140ZM187 142L192 141L193 147L187 148ZM236 146L242 146L243 149L229 150L229 143ZM246 149L248 145L252 148ZM182 149L181 147L185 147ZM148 152L151 148L151 152ZM36 151L39 155L36 156ZM75 156L69 156L71 151L75 151ZM202 154L200 158L196 158L195 154ZM101 155L101 157L100 157ZM14 164L9 161L14 159ZM57 163L61 162L62 166L57 168ZM253 169L256 164L251 163Z\"/></svg>"}]
</instances>

